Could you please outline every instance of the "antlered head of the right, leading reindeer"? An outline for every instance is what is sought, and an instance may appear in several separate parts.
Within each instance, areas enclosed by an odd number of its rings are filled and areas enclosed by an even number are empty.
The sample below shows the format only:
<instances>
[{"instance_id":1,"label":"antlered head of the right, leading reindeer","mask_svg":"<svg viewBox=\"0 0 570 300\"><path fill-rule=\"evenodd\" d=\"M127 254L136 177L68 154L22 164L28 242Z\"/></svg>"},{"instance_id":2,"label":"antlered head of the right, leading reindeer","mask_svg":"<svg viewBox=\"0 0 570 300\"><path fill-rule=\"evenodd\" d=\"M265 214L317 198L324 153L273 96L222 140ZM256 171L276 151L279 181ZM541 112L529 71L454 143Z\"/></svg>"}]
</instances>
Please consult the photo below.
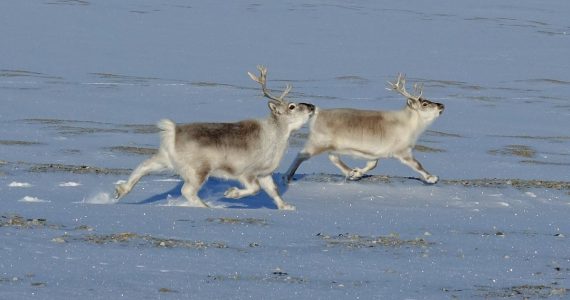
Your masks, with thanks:
<instances>
[{"instance_id":1,"label":"antlered head of the right, leading reindeer","mask_svg":"<svg viewBox=\"0 0 570 300\"><path fill-rule=\"evenodd\" d=\"M398 78L395 83L388 82L390 88L388 90L394 90L407 98L407 107L413 111L416 111L420 118L426 122L431 122L439 117L445 106L441 103L432 102L425 98L422 98L423 85L414 84L414 95L406 91L406 77L405 75L398 74Z\"/></svg>"}]
</instances>

